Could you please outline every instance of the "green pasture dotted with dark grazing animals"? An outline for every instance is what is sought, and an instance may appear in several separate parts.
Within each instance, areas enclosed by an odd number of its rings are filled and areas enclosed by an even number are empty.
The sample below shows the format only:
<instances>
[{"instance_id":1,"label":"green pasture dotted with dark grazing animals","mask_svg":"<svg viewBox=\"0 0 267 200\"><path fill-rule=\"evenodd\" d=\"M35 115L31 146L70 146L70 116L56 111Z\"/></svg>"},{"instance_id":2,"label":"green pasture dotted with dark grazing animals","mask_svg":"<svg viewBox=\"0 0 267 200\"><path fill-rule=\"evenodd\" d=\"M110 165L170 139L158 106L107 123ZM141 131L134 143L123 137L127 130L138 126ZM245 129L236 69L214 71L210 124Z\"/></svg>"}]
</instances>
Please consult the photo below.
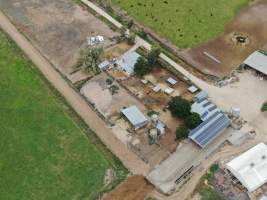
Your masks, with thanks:
<instances>
[{"instance_id":1,"label":"green pasture dotted with dark grazing animals","mask_svg":"<svg viewBox=\"0 0 267 200\"><path fill-rule=\"evenodd\" d=\"M180 48L194 47L223 32L249 0L111 0Z\"/></svg>"}]
</instances>

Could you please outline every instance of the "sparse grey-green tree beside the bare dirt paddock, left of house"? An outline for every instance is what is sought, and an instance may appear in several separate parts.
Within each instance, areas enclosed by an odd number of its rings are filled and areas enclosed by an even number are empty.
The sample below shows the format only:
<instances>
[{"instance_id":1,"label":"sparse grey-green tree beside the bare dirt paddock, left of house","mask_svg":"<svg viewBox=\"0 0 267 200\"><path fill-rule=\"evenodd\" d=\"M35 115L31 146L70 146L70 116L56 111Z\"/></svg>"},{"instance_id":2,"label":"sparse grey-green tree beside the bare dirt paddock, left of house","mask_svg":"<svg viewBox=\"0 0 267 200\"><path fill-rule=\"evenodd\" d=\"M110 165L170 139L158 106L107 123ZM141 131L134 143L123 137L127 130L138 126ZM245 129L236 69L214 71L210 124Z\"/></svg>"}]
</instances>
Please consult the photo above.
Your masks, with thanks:
<instances>
[{"instance_id":1,"label":"sparse grey-green tree beside the bare dirt paddock, left of house","mask_svg":"<svg viewBox=\"0 0 267 200\"><path fill-rule=\"evenodd\" d=\"M86 51L83 62L83 68L85 71L97 72L98 64L100 63L100 58L103 52L103 48L93 48Z\"/></svg>"}]
</instances>

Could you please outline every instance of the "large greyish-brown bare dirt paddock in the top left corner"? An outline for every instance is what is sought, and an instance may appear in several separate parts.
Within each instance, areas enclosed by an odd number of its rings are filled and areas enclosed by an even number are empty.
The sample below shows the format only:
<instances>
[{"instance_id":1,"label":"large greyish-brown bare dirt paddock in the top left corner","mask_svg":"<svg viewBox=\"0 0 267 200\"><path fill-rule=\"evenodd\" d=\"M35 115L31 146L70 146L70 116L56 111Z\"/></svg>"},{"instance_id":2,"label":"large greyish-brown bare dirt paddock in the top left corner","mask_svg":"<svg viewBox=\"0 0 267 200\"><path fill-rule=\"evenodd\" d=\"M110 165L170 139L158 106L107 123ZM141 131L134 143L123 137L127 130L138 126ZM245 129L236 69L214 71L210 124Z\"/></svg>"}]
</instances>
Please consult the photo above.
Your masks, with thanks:
<instances>
[{"instance_id":1,"label":"large greyish-brown bare dirt paddock in the top left corner","mask_svg":"<svg viewBox=\"0 0 267 200\"><path fill-rule=\"evenodd\" d=\"M0 8L62 73L73 71L87 36L119 34L71 0L0 0Z\"/></svg>"}]
</instances>

